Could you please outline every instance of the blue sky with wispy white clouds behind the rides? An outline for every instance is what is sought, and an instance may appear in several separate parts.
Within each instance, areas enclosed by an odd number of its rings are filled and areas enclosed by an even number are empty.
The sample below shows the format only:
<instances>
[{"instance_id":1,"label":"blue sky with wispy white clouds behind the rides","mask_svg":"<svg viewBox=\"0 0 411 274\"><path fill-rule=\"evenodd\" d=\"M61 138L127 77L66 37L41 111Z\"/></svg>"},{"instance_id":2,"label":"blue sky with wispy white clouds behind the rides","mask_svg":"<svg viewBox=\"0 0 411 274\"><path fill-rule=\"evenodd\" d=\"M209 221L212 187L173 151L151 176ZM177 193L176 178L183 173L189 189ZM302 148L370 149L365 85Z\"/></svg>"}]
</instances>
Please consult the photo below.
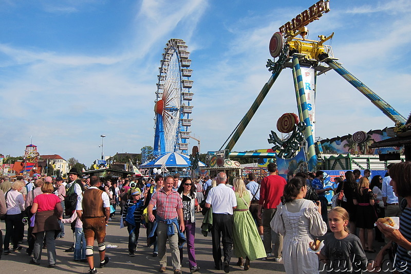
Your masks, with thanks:
<instances>
[{"instance_id":1,"label":"blue sky with wispy white clouds behind the rides","mask_svg":"<svg viewBox=\"0 0 411 274\"><path fill-rule=\"evenodd\" d=\"M271 76L272 34L314 3L1 1L0 153L23 155L33 136L40 154L89 167L101 156L101 134L105 155L153 145L158 66L172 38L191 52L192 134L201 153L218 150ZM407 118L411 3L331 0L330 8L308 26L308 39L335 32L339 62ZM233 150L270 148L268 135L286 112L297 112L290 69ZM322 138L394 125L334 71L317 79L315 115Z\"/></svg>"}]
</instances>

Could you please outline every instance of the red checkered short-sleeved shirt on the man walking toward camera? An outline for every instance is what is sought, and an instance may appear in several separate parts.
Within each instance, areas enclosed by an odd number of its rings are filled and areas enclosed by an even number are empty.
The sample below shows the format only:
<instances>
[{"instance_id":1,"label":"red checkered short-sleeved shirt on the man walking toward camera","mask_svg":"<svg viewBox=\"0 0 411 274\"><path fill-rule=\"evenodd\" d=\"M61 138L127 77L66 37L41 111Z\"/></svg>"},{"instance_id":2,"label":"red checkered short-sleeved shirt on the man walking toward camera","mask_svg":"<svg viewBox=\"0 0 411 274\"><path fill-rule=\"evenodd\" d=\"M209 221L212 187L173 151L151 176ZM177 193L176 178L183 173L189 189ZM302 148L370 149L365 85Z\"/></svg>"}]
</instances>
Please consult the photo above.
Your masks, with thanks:
<instances>
[{"instance_id":1,"label":"red checkered short-sleeved shirt on the man walking toward camera","mask_svg":"<svg viewBox=\"0 0 411 274\"><path fill-rule=\"evenodd\" d=\"M177 191L171 190L166 194L163 189L153 194L150 205L156 206L157 215L164 220L176 218L177 209L183 207L181 196Z\"/></svg>"}]
</instances>

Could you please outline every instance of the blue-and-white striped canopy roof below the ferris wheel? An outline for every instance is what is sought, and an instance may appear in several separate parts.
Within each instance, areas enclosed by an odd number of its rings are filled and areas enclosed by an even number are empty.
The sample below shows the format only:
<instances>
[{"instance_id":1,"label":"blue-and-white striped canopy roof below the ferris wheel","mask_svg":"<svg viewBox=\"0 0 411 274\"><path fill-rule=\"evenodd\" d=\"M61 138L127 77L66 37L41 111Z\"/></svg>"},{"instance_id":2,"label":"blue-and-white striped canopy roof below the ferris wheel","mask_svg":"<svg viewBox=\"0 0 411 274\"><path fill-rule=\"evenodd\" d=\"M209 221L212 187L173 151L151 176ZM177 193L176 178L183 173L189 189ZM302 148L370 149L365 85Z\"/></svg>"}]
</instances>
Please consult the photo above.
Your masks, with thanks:
<instances>
[{"instance_id":1,"label":"blue-and-white striped canopy roof below the ferris wheel","mask_svg":"<svg viewBox=\"0 0 411 274\"><path fill-rule=\"evenodd\" d=\"M147 161L140 165L140 168L161 168L162 165L167 168L187 168L191 166L190 156L180 154L177 152L171 152L159 156L157 159L152 161ZM206 165L198 161L199 167L206 167Z\"/></svg>"}]
</instances>

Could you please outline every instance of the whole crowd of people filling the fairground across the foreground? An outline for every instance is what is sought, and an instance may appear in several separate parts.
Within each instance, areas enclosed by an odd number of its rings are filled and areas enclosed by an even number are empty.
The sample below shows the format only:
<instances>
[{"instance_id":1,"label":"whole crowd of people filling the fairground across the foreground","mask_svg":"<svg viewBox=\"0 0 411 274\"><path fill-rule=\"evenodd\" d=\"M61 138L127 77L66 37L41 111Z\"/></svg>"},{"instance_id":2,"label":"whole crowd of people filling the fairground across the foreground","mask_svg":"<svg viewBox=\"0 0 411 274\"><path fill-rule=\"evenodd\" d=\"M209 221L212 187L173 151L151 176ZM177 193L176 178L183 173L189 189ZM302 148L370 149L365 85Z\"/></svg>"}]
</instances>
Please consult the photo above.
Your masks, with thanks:
<instances>
[{"instance_id":1,"label":"whole crowd of people filling the fairground across the foreground","mask_svg":"<svg viewBox=\"0 0 411 274\"><path fill-rule=\"evenodd\" d=\"M102 181L81 178L74 168L67 181L0 178L0 216L6 224L4 241L0 230L0 259L22 249L26 223L29 263L40 265L46 249L48 267L55 267L55 240L66 236L64 224L70 224L73 244L65 251L73 252L74 261L87 263L88 273L97 273L95 240L99 266L104 267L109 262L106 226L118 213L127 230L129 257L135 256L143 227L159 272L167 269L167 242L174 274L182 273L185 248L190 272L200 270L195 248L199 223L204 235L212 234L215 269L226 273L233 256L244 270L256 259L273 257L284 263L287 273L311 274L319 273L320 263L333 273L379 271L386 254L393 260L392 271L411 272L411 162L389 165L386 176L371 180L369 170L363 176L360 170L347 171L334 178L335 189L324 186L322 171L296 173L286 180L277 175L275 163L267 169L268 176L258 180L253 173L229 180L220 172L214 178L157 175ZM325 198L330 190L338 196L331 209ZM384 216L399 216L399 229L376 222ZM313 250L310 243L316 238L324 243ZM376 252L375 241L386 245L370 262L366 253Z\"/></svg>"}]
</instances>

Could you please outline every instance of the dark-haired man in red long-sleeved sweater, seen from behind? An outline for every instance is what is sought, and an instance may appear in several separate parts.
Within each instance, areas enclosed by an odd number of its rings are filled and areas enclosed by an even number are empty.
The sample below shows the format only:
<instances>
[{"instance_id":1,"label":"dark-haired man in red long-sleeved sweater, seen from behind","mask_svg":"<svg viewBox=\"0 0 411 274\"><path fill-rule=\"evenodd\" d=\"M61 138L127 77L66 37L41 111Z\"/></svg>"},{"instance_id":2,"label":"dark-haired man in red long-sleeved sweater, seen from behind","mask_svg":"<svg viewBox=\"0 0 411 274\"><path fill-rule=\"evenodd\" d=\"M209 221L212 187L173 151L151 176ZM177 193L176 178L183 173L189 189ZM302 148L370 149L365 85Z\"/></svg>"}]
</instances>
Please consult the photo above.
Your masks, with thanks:
<instances>
[{"instance_id":1,"label":"dark-haired man in red long-sleeved sweater, seen from behind","mask_svg":"<svg viewBox=\"0 0 411 274\"><path fill-rule=\"evenodd\" d=\"M277 211L277 206L281 202L281 196L283 196L284 187L287 184L286 180L276 175L277 165L270 162L267 166L270 175L263 178L260 184L260 199L258 204L258 217L263 218L263 230L264 230L264 248L266 249L267 257L271 255L271 226L270 222ZM264 210L263 210L264 208ZM278 233L274 233L274 260L276 262L282 261L283 251L283 236Z\"/></svg>"}]
</instances>

